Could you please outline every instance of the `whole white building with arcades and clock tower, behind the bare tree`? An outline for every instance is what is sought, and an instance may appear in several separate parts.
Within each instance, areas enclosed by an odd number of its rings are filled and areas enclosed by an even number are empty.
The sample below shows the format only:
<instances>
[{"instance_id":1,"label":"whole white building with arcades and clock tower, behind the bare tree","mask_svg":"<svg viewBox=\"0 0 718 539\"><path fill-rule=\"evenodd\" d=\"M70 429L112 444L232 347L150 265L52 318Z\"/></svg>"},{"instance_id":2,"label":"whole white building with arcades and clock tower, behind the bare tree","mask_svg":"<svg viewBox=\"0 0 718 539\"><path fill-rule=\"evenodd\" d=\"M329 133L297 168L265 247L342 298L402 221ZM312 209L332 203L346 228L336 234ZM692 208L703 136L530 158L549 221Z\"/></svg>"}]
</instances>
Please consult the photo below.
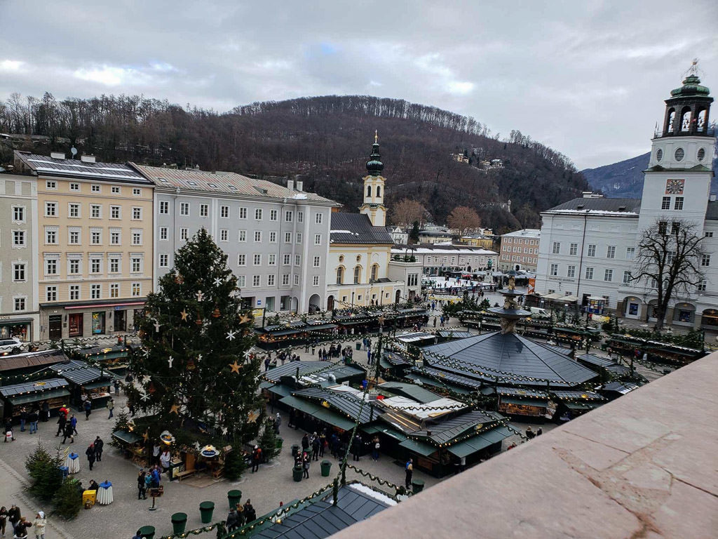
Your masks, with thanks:
<instances>
[{"instance_id":1,"label":"whole white building with arcades and clock tower, behind the bare tree","mask_svg":"<svg viewBox=\"0 0 718 539\"><path fill-rule=\"evenodd\" d=\"M587 195L541 213L536 292L577 296L578 305L602 297L605 307L626 318L655 321L653 283L632 280L643 231L678 221L704 236L704 282L674 295L666 323L718 331L718 202L709 193L714 133L713 99L695 75L666 100L663 129L652 141L640 199Z\"/></svg>"}]
</instances>

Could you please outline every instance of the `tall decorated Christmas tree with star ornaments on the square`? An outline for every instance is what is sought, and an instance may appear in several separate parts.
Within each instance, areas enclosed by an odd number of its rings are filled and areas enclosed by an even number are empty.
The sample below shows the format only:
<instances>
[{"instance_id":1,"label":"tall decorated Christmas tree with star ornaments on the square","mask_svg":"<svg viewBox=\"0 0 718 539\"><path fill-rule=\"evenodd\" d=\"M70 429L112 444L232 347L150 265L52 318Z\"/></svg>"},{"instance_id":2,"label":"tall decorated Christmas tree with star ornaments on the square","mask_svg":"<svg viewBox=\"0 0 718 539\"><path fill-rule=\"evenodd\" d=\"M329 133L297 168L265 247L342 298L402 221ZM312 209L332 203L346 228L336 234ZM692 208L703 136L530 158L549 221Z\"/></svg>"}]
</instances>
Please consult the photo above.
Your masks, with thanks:
<instances>
[{"instance_id":1,"label":"tall decorated Christmas tree with star ornaments on the square","mask_svg":"<svg viewBox=\"0 0 718 539\"><path fill-rule=\"evenodd\" d=\"M145 303L143 350L132 359L140 389L130 391L148 415L134 419L134 431L145 440L169 431L174 443L218 448L256 438L264 400L252 328L227 255L200 229Z\"/></svg>"}]
</instances>

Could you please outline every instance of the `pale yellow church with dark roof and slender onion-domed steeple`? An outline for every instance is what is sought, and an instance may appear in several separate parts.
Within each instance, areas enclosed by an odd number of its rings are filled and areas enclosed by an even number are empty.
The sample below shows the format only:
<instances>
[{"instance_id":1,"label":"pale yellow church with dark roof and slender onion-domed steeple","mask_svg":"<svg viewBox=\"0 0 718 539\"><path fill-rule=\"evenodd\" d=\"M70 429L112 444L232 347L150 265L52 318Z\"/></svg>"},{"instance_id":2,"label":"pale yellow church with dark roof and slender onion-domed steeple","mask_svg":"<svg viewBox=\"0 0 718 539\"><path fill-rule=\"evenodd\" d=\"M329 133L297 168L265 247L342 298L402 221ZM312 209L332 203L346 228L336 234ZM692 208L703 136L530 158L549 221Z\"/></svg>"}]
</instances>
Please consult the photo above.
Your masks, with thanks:
<instances>
[{"instance_id":1,"label":"pale yellow church with dark roof and slender onion-domed steeple","mask_svg":"<svg viewBox=\"0 0 718 539\"><path fill-rule=\"evenodd\" d=\"M376 139L364 177L360 213L332 213L327 262L327 310L404 302L421 290L416 264L395 264L394 242L386 227L385 178ZM406 266L406 268L405 268ZM411 289L409 282L416 282Z\"/></svg>"}]
</instances>

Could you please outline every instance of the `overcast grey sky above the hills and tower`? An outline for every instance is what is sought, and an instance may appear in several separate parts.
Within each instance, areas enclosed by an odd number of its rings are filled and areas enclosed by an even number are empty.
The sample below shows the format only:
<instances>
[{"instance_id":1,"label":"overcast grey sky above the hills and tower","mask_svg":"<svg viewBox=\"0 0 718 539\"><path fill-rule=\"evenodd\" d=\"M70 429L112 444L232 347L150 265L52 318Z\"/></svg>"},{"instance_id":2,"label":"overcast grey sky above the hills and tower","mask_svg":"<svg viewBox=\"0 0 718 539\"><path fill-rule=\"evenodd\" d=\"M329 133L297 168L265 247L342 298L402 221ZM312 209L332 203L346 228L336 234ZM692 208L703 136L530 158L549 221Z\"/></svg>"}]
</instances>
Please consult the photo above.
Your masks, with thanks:
<instances>
[{"instance_id":1,"label":"overcast grey sky above the hills and tower","mask_svg":"<svg viewBox=\"0 0 718 539\"><path fill-rule=\"evenodd\" d=\"M596 167L648 151L694 57L718 93L717 23L716 0L0 0L0 98L370 94Z\"/></svg>"}]
</instances>

